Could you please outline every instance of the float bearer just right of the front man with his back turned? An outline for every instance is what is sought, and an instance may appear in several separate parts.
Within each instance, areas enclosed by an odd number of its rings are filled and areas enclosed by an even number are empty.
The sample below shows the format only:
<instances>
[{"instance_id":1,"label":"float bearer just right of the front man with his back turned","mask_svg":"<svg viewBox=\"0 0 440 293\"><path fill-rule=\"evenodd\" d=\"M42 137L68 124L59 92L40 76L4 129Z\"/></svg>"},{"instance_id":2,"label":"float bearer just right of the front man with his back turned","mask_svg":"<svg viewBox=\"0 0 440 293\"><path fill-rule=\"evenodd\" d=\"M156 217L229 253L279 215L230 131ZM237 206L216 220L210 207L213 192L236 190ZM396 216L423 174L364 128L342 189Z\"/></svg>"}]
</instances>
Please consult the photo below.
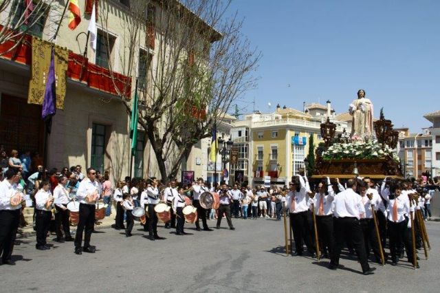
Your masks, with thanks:
<instances>
[{"instance_id":1,"label":"float bearer just right of the front man with his back turned","mask_svg":"<svg viewBox=\"0 0 440 293\"><path fill-rule=\"evenodd\" d=\"M382 261L380 259L379 244L377 243L378 239L376 237L376 231L373 221L373 213L375 213L375 210L378 210L379 208L381 210L384 210L385 206L382 204L382 199L380 198L379 193L371 192L367 194L366 182L360 181L358 183L358 188L360 192L361 201L362 204L364 205L364 210L365 210L364 217L361 217L360 219L360 226L364 234L364 246L365 246L366 258L367 259L369 258L370 249L372 249L377 263L382 264ZM371 208L371 205L374 206L374 210Z\"/></svg>"}]
</instances>

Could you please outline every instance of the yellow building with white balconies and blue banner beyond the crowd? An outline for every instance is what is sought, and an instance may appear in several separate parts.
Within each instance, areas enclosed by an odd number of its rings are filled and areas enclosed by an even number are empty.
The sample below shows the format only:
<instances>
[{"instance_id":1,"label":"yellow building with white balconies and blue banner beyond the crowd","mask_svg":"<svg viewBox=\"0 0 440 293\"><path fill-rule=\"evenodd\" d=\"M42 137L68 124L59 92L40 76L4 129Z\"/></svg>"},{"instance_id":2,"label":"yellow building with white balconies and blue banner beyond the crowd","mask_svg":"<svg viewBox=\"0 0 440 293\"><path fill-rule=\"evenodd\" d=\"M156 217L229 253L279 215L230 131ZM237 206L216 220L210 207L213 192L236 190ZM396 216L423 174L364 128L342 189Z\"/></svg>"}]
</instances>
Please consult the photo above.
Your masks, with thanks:
<instances>
[{"instance_id":1,"label":"yellow building with white balconies and blue banner beyond the crowd","mask_svg":"<svg viewBox=\"0 0 440 293\"><path fill-rule=\"evenodd\" d=\"M308 108L299 111L292 108L276 107L273 113L253 113L244 120L234 123L231 137L234 145L244 144L247 147L247 159L241 153L241 160L246 165L232 165L232 170L243 170L245 181L260 185L265 176L271 177L272 184L288 184L292 175L304 169L304 159L309 152L309 137L314 135L314 146L321 142L320 124L327 119L327 113L337 124L337 132L347 128L347 122L336 121L334 111L328 107L313 104L314 110ZM317 110L318 109L318 110ZM329 111L327 111L329 110ZM318 115L316 114L318 113ZM239 133L249 133L243 138ZM233 172L231 172L233 174Z\"/></svg>"}]
</instances>

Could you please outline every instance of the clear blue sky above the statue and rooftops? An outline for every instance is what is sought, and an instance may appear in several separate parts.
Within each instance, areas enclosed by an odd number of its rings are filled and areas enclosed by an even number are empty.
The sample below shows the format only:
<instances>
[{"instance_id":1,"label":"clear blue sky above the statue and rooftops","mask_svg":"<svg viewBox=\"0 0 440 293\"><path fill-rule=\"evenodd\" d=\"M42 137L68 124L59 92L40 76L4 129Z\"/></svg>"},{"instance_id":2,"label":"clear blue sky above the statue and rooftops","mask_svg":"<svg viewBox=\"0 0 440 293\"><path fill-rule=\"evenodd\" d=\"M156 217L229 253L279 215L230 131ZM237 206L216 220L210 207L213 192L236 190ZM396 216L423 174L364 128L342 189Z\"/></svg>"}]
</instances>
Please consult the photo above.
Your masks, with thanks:
<instances>
[{"instance_id":1,"label":"clear blue sky above the statue and rooftops","mask_svg":"<svg viewBox=\"0 0 440 293\"><path fill-rule=\"evenodd\" d=\"M438 0L234 0L229 12L263 53L258 88L239 102L245 113L254 98L263 112L267 102L274 110L331 100L341 113L361 88L376 117L384 107L412 132L440 110Z\"/></svg>"}]
</instances>

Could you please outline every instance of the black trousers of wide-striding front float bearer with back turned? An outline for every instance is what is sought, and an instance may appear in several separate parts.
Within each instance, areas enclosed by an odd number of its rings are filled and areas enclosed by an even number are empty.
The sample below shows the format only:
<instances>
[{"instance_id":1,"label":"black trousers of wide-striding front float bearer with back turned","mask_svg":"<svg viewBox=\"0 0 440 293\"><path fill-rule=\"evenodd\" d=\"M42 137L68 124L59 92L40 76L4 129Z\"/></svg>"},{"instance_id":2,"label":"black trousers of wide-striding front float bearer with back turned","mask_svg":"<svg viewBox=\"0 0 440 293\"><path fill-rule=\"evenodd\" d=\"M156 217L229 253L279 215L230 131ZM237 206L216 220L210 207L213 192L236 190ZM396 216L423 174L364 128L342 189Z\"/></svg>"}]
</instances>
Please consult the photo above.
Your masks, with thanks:
<instances>
[{"instance_id":1,"label":"black trousers of wide-striding front float bearer with back turned","mask_svg":"<svg viewBox=\"0 0 440 293\"><path fill-rule=\"evenodd\" d=\"M355 217L341 217L334 219L335 224L335 253L331 256L330 263L332 265L339 265L339 259L341 255L342 247L344 243L349 239L353 243L353 248L355 248L358 254L358 260L362 267L362 272L366 272L370 269L368 260L366 259L365 245L364 245L364 235L362 234L362 228L360 226L360 221Z\"/></svg>"}]
</instances>

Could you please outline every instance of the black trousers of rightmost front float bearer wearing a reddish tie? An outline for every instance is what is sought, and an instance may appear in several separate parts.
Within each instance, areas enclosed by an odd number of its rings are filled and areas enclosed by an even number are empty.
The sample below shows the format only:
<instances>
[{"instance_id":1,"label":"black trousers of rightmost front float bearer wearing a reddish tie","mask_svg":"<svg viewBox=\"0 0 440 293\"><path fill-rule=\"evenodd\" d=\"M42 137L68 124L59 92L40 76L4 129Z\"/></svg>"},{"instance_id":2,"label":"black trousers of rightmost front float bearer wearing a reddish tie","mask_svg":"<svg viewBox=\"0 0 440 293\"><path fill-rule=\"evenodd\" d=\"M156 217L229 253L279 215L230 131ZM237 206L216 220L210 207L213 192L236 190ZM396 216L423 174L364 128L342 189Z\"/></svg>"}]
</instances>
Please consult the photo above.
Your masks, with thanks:
<instances>
[{"instance_id":1,"label":"black trousers of rightmost front float bearer wearing a reddish tie","mask_svg":"<svg viewBox=\"0 0 440 293\"><path fill-rule=\"evenodd\" d=\"M401 251L401 243L404 243L408 261L412 262L411 229L408 228L408 218L400 223L388 221L388 232L390 235L391 260L397 261Z\"/></svg>"}]
</instances>

